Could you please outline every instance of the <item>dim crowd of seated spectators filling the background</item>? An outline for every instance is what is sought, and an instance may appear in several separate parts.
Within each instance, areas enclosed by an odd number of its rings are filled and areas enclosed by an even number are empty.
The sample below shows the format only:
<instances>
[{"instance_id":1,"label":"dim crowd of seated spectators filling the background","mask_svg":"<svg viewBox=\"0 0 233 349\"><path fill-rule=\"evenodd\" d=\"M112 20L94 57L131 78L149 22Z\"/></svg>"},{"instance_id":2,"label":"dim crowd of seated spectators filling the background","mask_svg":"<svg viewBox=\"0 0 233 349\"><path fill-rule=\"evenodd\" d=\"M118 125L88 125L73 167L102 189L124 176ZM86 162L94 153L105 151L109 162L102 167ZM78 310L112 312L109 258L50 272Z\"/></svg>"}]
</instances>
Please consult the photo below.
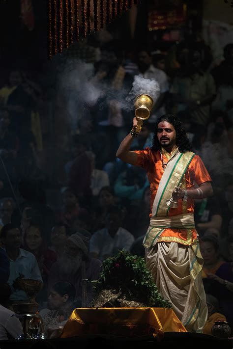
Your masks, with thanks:
<instances>
[{"instance_id":1,"label":"dim crowd of seated spectators filling the background","mask_svg":"<svg viewBox=\"0 0 233 349\"><path fill-rule=\"evenodd\" d=\"M106 258L121 249L145 256L149 182L143 169L116 158L133 116L118 96L127 96L137 75L157 81L160 90L131 149L152 146L155 121L173 113L212 178L213 197L195 200L208 305L204 331L210 334L216 319L233 328L233 44L216 67L204 42L177 44L173 62L169 52L155 49L84 42L40 73L14 69L2 81L0 339L22 332L11 323L12 304L28 298L20 279L43 283L36 300L51 335L84 305L83 279L90 304L91 281ZM77 102L75 89L69 100L62 95L60 72L74 58L93 67L88 82L101 87L91 104L79 96Z\"/></svg>"}]
</instances>

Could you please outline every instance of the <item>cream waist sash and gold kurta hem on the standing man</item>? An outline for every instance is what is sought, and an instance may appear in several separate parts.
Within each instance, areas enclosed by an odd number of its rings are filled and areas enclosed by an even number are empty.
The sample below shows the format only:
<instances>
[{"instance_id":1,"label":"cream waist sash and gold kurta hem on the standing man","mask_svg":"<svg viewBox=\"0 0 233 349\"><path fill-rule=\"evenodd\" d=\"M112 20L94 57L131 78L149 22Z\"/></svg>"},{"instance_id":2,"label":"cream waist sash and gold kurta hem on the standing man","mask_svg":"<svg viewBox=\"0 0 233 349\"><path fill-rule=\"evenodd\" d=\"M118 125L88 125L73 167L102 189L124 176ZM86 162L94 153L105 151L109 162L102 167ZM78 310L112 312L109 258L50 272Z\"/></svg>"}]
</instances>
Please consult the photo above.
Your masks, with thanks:
<instances>
[{"instance_id":1,"label":"cream waist sash and gold kurta hem on the standing man","mask_svg":"<svg viewBox=\"0 0 233 349\"><path fill-rule=\"evenodd\" d=\"M187 230L187 240L179 239L178 237L162 237L164 229L180 229ZM165 217L151 217L150 224L147 229L143 244L145 247L151 247L156 245L157 242L179 242L184 245L191 245L195 243L192 241L192 230L195 229L194 215L193 214L182 214Z\"/></svg>"}]
</instances>

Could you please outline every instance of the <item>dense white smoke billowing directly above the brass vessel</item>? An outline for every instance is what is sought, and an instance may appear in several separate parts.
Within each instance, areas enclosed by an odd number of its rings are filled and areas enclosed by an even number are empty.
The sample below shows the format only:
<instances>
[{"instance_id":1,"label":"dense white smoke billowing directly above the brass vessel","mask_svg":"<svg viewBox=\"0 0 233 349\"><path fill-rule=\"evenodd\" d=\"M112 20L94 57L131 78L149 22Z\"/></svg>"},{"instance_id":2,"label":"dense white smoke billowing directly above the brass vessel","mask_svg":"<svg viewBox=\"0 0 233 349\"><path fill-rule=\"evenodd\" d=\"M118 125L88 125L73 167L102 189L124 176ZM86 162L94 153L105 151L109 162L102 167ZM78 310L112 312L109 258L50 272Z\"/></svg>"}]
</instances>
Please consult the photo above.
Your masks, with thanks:
<instances>
[{"instance_id":1,"label":"dense white smoke billowing directly above the brass vessel","mask_svg":"<svg viewBox=\"0 0 233 349\"><path fill-rule=\"evenodd\" d=\"M140 75L136 75L133 82L133 87L126 97L125 109L132 110L134 107L134 100L140 94L147 94L155 103L159 96L160 87L156 80L153 79L145 79Z\"/></svg>"}]
</instances>

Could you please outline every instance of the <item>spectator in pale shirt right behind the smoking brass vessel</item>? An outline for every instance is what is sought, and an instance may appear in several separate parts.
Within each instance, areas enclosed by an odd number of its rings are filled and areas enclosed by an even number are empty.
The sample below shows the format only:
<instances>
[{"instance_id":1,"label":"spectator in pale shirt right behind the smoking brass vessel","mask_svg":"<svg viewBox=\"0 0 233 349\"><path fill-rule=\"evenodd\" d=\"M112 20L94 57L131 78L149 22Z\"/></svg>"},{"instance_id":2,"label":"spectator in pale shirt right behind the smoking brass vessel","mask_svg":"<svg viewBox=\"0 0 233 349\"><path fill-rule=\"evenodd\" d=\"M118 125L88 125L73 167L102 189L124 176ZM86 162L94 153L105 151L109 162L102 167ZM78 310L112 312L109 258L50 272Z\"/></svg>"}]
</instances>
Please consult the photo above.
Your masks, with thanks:
<instances>
[{"instance_id":1,"label":"spectator in pale shirt right behind the smoking brass vessel","mask_svg":"<svg viewBox=\"0 0 233 349\"><path fill-rule=\"evenodd\" d=\"M145 79L152 79L158 82L160 91L156 100L151 116L148 122L155 122L155 119L165 114L165 97L169 91L169 81L166 73L152 64L152 57L149 51L141 50L138 52L138 68L140 75Z\"/></svg>"}]
</instances>

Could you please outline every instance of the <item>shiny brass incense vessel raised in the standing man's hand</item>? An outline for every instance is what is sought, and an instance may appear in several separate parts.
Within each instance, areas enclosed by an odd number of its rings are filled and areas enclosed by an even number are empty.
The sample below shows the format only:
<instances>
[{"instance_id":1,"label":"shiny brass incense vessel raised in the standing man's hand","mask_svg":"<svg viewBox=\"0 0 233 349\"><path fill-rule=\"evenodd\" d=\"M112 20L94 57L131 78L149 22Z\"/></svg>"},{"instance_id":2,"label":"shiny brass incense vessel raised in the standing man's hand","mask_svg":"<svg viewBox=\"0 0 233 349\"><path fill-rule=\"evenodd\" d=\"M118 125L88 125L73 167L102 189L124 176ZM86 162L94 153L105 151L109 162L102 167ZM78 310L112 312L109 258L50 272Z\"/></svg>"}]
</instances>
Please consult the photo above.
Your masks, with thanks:
<instances>
[{"instance_id":1,"label":"shiny brass incense vessel raised in the standing man's hand","mask_svg":"<svg viewBox=\"0 0 233 349\"><path fill-rule=\"evenodd\" d=\"M135 132L137 134L142 130L144 120L147 120L150 115L150 110L153 107L153 99L147 94L138 95L134 102L135 116L138 120Z\"/></svg>"}]
</instances>

